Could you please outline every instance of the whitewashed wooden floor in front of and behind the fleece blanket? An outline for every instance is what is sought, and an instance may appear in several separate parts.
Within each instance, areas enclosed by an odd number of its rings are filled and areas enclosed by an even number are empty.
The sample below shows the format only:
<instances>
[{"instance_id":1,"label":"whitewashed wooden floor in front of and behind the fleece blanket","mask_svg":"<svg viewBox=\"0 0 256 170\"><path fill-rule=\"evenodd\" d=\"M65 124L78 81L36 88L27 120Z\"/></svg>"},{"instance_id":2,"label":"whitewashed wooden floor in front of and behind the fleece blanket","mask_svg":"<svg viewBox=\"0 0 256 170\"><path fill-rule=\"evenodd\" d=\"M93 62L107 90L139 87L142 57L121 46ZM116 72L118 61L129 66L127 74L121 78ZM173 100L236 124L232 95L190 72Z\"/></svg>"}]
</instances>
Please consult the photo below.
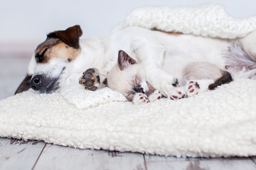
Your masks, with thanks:
<instances>
[{"instance_id":1,"label":"whitewashed wooden floor in front of and behind the fleece blanket","mask_svg":"<svg viewBox=\"0 0 256 170\"><path fill-rule=\"evenodd\" d=\"M31 54L0 52L0 99L12 96ZM1 114L1 113L0 113ZM176 158L130 152L75 149L0 137L0 169L230 169L256 170L256 157Z\"/></svg>"}]
</instances>

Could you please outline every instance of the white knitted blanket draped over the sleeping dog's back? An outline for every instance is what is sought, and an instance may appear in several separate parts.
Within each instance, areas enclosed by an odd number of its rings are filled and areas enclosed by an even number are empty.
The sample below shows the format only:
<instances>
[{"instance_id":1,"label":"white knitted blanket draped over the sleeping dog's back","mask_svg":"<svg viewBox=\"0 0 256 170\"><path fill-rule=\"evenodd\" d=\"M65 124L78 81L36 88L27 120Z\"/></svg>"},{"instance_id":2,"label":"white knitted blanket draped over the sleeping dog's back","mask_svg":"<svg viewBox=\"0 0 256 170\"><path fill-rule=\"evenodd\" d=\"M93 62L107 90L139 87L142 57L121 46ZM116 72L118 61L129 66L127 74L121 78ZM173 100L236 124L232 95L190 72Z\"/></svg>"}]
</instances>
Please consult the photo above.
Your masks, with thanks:
<instances>
[{"instance_id":1,"label":"white knitted blanket draped over the sleeping dog's back","mask_svg":"<svg viewBox=\"0 0 256 170\"><path fill-rule=\"evenodd\" d=\"M195 7L142 7L133 12L115 31L129 26L234 39L256 30L256 16L234 19L219 5Z\"/></svg>"}]
</instances>

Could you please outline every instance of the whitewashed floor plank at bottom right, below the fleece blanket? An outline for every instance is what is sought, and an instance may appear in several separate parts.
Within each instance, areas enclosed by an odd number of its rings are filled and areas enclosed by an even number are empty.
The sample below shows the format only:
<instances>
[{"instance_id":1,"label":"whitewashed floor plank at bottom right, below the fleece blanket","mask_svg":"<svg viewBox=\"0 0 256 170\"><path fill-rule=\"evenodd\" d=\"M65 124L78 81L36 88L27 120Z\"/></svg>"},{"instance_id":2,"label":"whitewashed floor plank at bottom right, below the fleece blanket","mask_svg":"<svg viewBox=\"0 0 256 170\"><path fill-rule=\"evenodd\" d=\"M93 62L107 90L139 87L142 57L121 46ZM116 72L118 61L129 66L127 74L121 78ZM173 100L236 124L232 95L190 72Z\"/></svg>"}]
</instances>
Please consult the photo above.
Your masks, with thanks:
<instances>
[{"instance_id":1,"label":"whitewashed floor plank at bottom right, below the fleece blanket","mask_svg":"<svg viewBox=\"0 0 256 170\"><path fill-rule=\"evenodd\" d=\"M256 170L256 164L249 157L235 158L176 158L172 156L145 156L147 170L173 169L173 170Z\"/></svg>"}]
</instances>

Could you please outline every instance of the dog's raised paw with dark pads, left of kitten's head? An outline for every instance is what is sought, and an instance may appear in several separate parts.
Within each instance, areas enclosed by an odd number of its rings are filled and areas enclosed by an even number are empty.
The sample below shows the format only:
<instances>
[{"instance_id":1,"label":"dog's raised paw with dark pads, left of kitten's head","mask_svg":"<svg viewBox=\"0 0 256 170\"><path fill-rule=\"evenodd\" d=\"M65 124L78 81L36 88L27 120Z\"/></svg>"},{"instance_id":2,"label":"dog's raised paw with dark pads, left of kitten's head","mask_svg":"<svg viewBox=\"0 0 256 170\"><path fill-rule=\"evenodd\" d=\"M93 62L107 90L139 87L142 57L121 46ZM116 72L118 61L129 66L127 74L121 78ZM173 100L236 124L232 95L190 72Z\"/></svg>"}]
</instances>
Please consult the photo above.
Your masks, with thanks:
<instances>
[{"instance_id":1,"label":"dog's raised paw with dark pads, left of kitten's head","mask_svg":"<svg viewBox=\"0 0 256 170\"><path fill-rule=\"evenodd\" d=\"M107 86L107 78L102 75L98 69L90 68L82 73L82 76L79 78L79 83L84 86L85 89L95 91Z\"/></svg>"}]
</instances>

